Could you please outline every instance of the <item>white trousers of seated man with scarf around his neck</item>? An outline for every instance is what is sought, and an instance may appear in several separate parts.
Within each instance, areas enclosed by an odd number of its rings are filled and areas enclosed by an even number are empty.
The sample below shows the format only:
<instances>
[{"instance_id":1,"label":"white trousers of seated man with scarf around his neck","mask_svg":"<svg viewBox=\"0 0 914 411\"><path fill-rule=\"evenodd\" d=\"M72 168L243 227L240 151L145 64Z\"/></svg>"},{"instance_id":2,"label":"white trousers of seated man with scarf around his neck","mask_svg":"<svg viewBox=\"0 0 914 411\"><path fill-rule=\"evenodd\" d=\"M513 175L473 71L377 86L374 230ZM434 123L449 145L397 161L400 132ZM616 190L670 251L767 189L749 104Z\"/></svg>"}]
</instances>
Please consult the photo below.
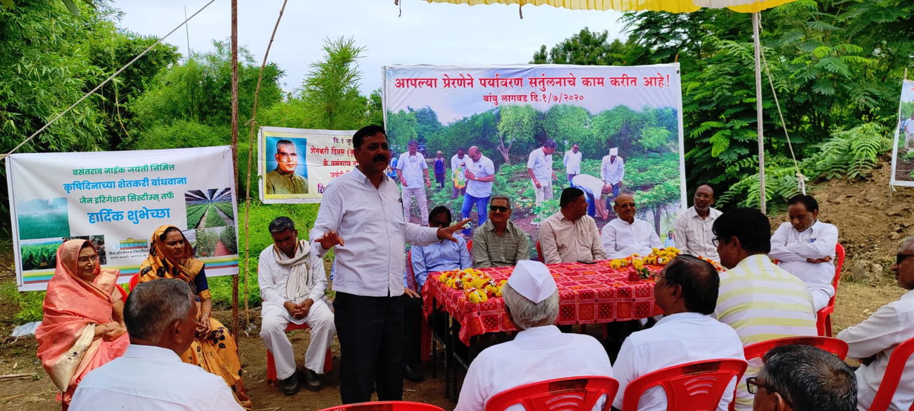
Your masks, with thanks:
<instances>
[{"instance_id":1,"label":"white trousers of seated man with scarf around his neck","mask_svg":"<svg viewBox=\"0 0 914 411\"><path fill-rule=\"evenodd\" d=\"M306 323L311 327L311 343L308 344L308 351L304 353L304 367L314 373L324 374L324 355L336 334L334 313L330 311L326 301L314 302L308 316L302 320L292 318L289 311L271 303L263 304L260 315L260 338L263 339L267 350L273 354L277 378L289 378L295 372L295 353L292 351L292 342L285 334L285 328L290 322Z\"/></svg>"}]
</instances>

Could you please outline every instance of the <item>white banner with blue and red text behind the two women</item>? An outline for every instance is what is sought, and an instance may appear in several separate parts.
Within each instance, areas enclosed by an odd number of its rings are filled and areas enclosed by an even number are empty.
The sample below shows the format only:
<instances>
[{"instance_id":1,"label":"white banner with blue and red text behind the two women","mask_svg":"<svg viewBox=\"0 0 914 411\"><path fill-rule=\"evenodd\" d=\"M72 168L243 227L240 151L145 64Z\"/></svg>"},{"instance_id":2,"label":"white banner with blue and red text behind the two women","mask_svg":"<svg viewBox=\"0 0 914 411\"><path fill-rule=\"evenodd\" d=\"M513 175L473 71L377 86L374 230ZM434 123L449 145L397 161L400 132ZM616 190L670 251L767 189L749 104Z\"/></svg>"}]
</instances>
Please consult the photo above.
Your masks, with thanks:
<instances>
[{"instance_id":1,"label":"white banner with blue and red text behind the two women","mask_svg":"<svg viewBox=\"0 0 914 411\"><path fill-rule=\"evenodd\" d=\"M238 274L238 197L228 146L6 158L19 290L45 290L57 248L86 238L121 282L139 271L156 227L184 231L207 277Z\"/></svg>"}]
</instances>

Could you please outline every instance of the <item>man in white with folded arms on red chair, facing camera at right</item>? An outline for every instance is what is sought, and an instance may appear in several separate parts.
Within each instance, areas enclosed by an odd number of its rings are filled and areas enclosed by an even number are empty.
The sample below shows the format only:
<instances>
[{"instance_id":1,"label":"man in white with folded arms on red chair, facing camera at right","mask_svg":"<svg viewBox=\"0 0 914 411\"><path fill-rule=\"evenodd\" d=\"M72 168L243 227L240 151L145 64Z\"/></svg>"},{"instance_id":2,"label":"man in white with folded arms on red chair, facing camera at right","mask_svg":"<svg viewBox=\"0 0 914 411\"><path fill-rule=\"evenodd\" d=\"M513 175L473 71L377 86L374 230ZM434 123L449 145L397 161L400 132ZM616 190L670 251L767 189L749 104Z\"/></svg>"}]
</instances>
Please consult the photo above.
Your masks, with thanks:
<instances>
[{"instance_id":1,"label":"man in white with folded arms on red chair, facing camera at right","mask_svg":"<svg viewBox=\"0 0 914 411\"><path fill-rule=\"evenodd\" d=\"M812 195L794 195L787 201L790 222L771 236L768 256L778 267L802 279L813 296L813 308L822 310L834 295L834 247L838 228L819 221L819 203Z\"/></svg>"}]
</instances>

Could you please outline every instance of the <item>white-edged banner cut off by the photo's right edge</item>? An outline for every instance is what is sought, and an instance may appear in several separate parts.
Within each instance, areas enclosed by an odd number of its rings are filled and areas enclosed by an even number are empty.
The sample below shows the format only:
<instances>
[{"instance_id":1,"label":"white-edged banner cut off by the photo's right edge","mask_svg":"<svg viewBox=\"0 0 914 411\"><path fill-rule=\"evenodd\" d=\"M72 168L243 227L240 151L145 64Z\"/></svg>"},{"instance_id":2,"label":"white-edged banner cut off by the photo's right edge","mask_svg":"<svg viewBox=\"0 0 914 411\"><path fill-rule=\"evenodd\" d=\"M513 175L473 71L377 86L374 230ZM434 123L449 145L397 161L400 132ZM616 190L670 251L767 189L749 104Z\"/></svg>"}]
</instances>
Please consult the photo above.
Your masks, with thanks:
<instances>
[{"instance_id":1,"label":"white-edged banner cut off by the photo's right edge","mask_svg":"<svg viewBox=\"0 0 914 411\"><path fill-rule=\"evenodd\" d=\"M901 83L898 126L892 149L892 185L914 186L914 80Z\"/></svg>"}]
</instances>

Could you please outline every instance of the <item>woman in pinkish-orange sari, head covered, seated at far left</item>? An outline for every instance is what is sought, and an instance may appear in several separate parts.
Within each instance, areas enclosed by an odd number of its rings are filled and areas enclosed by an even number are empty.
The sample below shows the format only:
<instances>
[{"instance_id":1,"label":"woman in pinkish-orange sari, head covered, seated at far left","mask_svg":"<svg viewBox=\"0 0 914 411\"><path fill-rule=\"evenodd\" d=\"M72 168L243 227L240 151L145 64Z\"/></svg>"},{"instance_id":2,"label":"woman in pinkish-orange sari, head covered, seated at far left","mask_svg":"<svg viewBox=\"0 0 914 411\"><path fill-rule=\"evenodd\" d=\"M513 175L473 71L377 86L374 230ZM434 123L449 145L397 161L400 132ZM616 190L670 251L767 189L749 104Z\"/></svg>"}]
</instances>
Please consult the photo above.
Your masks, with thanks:
<instances>
[{"instance_id":1,"label":"woman in pinkish-orange sari, head covered, seated at far left","mask_svg":"<svg viewBox=\"0 0 914 411\"><path fill-rule=\"evenodd\" d=\"M130 345L119 273L101 269L99 254L88 240L71 239L58 248L44 319L35 335L38 358L60 390L58 401L64 410L82 377L120 357Z\"/></svg>"}]
</instances>

